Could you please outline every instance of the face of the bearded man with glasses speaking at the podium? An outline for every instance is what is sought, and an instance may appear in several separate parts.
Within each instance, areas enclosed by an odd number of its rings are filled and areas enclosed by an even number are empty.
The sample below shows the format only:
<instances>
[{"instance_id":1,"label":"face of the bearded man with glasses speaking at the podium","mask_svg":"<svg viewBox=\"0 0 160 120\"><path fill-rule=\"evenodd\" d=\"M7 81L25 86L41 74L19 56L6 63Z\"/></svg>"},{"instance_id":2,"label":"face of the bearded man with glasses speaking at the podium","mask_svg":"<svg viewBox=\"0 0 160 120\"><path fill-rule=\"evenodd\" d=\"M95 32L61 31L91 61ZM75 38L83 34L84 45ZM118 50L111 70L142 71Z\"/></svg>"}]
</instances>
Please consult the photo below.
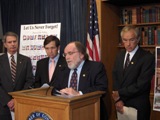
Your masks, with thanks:
<instances>
[{"instance_id":1,"label":"face of the bearded man with glasses speaking at the podium","mask_svg":"<svg viewBox=\"0 0 160 120\"><path fill-rule=\"evenodd\" d=\"M77 50L74 43L70 43L66 46L64 55L70 69L77 68L84 58L84 55Z\"/></svg>"}]
</instances>

